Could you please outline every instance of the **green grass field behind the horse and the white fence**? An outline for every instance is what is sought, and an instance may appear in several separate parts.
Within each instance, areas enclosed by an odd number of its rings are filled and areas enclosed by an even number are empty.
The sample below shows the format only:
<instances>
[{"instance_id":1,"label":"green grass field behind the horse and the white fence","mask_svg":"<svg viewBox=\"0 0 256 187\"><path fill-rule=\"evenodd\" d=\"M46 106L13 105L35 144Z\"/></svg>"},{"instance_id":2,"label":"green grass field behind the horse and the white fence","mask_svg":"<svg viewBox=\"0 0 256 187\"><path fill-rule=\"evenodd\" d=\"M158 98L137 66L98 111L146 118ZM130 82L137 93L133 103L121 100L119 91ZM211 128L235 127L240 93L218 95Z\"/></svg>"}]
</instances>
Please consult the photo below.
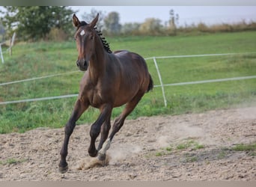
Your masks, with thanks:
<instances>
[{"instance_id":1,"label":"green grass field behind the horse and the white fence","mask_svg":"<svg viewBox=\"0 0 256 187\"><path fill-rule=\"evenodd\" d=\"M144 58L164 55L199 55L216 53L250 54L157 59L164 84L224 79L256 75L256 32L205 34L177 37L110 37L112 51L128 49ZM13 56L4 55L0 64L0 83L19 79L76 71L76 44L18 43ZM147 60L155 85L159 79L152 60ZM0 86L0 102L59 96L78 93L82 72L48 79ZM256 79L215 82L200 85L165 87L168 106L164 107L161 88L147 93L128 118L158 114L183 114L230 108L237 105L255 105ZM0 133L25 132L39 126L64 126L76 98L53 99L40 102L22 102L0 105ZM116 117L121 108L115 108ZM89 108L78 124L91 123L98 111Z\"/></svg>"}]
</instances>

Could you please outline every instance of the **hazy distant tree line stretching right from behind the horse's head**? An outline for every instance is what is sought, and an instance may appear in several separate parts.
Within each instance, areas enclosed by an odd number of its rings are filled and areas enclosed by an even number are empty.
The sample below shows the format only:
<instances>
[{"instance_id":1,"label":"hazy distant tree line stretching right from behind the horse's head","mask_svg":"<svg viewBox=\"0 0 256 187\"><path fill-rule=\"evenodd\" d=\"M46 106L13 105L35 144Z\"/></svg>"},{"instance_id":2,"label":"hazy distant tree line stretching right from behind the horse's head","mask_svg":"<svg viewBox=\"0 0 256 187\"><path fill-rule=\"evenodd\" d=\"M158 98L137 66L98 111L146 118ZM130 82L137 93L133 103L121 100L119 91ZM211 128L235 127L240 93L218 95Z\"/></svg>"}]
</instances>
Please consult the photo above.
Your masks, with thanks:
<instances>
[{"instance_id":1,"label":"hazy distant tree line stretching right from behind the horse's head","mask_svg":"<svg viewBox=\"0 0 256 187\"><path fill-rule=\"evenodd\" d=\"M100 12L100 22L97 27L106 35L151 35L151 36L175 36L177 34L201 34L215 32L234 32L234 31L256 31L256 22L246 22L241 20L237 23L221 23L207 25L204 22L198 24L178 26L179 14L174 10L169 10L168 21L162 23L161 19L147 18L144 22L127 22L120 24L118 12L105 14L102 11L92 9L90 13L84 13L83 19L90 21Z\"/></svg>"}]
</instances>

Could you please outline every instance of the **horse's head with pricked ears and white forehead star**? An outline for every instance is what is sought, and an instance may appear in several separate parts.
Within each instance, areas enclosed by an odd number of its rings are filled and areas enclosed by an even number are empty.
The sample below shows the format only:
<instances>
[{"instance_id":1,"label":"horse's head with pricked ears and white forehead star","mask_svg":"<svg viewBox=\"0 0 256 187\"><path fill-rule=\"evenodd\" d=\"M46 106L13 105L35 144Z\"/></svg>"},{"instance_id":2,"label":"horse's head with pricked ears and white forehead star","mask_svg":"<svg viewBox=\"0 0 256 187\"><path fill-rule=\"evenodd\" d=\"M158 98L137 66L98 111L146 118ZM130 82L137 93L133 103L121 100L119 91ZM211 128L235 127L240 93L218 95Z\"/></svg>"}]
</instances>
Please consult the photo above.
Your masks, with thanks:
<instances>
[{"instance_id":1,"label":"horse's head with pricked ears and white forehead star","mask_svg":"<svg viewBox=\"0 0 256 187\"><path fill-rule=\"evenodd\" d=\"M94 54L95 37L97 37L97 32L94 30L94 27L98 19L99 13L94 20L88 24L84 21L80 22L76 14L73 14L73 25L77 28L75 34L76 48L79 52L76 64L82 71L88 69L91 56Z\"/></svg>"}]
</instances>

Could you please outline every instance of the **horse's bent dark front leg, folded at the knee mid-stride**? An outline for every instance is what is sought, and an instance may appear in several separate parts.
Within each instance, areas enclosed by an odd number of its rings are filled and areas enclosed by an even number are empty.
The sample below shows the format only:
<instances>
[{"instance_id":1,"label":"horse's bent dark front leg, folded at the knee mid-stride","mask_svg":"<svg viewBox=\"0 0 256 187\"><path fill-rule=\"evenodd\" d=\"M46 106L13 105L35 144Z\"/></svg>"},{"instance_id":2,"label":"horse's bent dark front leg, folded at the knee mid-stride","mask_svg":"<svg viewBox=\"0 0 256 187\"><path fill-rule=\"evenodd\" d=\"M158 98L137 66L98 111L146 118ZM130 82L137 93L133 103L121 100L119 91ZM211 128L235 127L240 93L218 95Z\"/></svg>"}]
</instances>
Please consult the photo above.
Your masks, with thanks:
<instances>
[{"instance_id":1,"label":"horse's bent dark front leg, folded at the knee mid-stride","mask_svg":"<svg viewBox=\"0 0 256 187\"><path fill-rule=\"evenodd\" d=\"M88 148L88 153L92 157L97 156L97 153L98 153L98 150L96 150L96 147L95 147L95 141L97 137L100 135L100 130L102 132L102 135L100 138L99 149L102 147L104 141L106 141L106 138L109 135L111 113L112 113L112 105L109 105L109 104L103 105L103 107L100 108L100 116L91 126L91 131L90 131L91 143Z\"/></svg>"}]
</instances>

